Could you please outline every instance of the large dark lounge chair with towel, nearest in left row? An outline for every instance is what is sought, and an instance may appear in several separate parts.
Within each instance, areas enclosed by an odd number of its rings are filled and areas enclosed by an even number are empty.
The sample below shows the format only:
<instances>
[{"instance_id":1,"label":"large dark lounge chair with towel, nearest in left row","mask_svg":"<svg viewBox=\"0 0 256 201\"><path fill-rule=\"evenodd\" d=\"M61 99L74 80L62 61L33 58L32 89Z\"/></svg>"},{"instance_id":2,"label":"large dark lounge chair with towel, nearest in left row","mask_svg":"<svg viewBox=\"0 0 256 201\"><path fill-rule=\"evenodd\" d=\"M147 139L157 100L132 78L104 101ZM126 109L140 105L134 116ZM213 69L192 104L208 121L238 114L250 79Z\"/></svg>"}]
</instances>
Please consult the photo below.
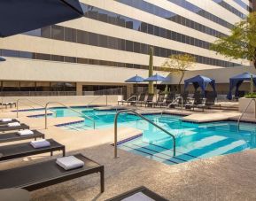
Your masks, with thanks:
<instances>
[{"instance_id":1,"label":"large dark lounge chair with towel, nearest in left row","mask_svg":"<svg viewBox=\"0 0 256 201\"><path fill-rule=\"evenodd\" d=\"M74 157L82 160L84 166L73 170L65 170L56 164L56 159L51 159L27 166L1 170L0 189L20 188L32 191L84 175L100 173L101 192L104 192L104 166L81 154L76 154Z\"/></svg>"}]
</instances>

